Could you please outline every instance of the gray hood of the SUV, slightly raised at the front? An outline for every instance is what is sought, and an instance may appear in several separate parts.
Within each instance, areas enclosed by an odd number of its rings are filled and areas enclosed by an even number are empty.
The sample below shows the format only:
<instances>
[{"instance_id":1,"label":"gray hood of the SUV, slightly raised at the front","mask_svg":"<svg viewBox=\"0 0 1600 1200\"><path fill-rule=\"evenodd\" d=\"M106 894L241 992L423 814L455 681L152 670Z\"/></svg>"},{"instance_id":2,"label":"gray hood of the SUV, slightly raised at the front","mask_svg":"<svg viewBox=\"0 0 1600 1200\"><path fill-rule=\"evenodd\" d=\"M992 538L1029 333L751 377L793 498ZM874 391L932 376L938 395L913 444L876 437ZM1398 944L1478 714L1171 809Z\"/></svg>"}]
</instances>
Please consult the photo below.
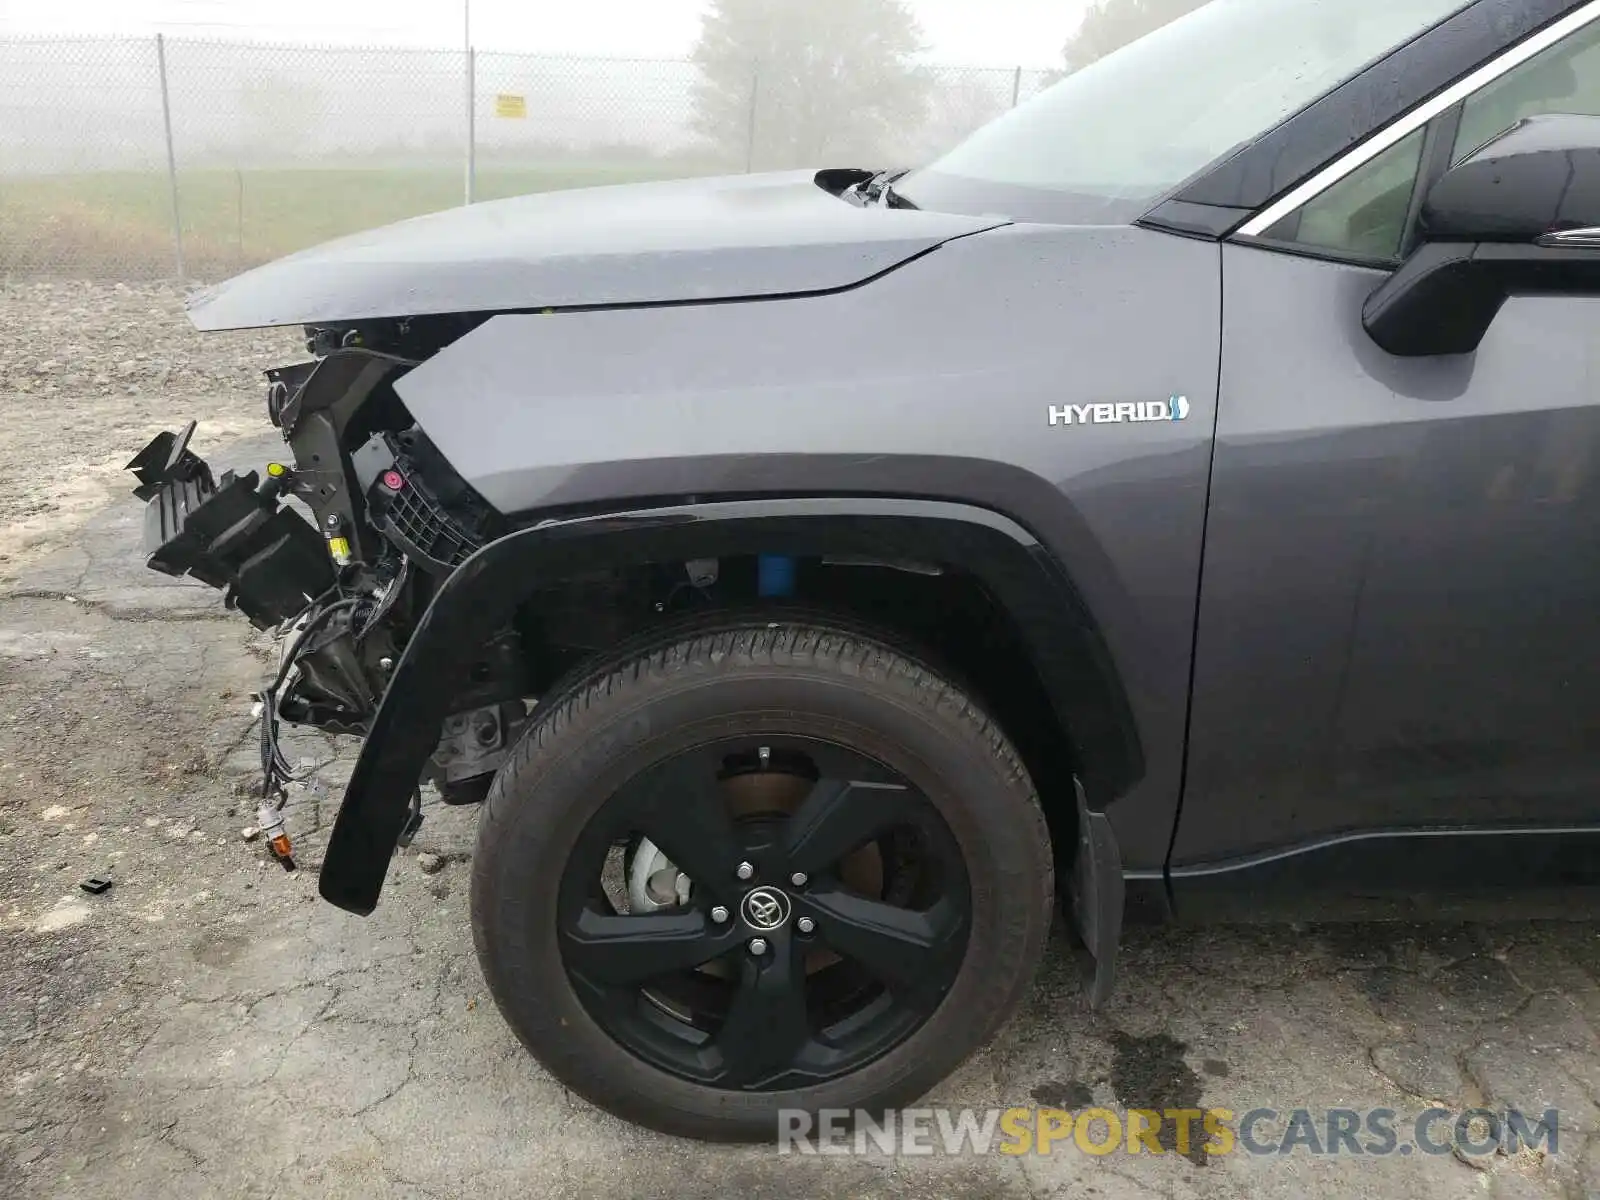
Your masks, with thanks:
<instances>
[{"instance_id":1,"label":"gray hood of the SUV, slightly raised at the front","mask_svg":"<svg viewBox=\"0 0 1600 1200\"><path fill-rule=\"evenodd\" d=\"M494 200L328 242L206 288L200 330L790 296L861 283L1005 224L859 208L813 171Z\"/></svg>"}]
</instances>

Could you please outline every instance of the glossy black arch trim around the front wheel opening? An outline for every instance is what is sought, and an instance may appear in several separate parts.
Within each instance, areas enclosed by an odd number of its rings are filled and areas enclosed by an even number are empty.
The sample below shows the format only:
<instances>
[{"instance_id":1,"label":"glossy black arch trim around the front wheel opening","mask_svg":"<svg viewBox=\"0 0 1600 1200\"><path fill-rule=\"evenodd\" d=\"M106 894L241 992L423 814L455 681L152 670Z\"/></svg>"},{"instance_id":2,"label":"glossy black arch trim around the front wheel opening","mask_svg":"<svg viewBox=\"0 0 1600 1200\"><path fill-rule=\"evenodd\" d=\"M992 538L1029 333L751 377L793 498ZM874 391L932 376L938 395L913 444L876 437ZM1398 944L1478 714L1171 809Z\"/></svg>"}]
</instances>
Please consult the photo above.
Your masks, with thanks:
<instances>
[{"instance_id":1,"label":"glossy black arch trim around the front wheel opening","mask_svg":"<svg viewBox=\"0 0 1600 1200\"><path fill-rule=\"evenodd\" d=\"M536 587L611 565L824 552L915 557L973 573L1027 643L1090 808L1104 808L1139 778L1138 730L1109 648L1061 565L1008 517L944 501L794 498L549 520L482 547L422 614L346 787L322 896L358 915L376 907L450 698L478 646Z\"/></svg>"}]
</instances>

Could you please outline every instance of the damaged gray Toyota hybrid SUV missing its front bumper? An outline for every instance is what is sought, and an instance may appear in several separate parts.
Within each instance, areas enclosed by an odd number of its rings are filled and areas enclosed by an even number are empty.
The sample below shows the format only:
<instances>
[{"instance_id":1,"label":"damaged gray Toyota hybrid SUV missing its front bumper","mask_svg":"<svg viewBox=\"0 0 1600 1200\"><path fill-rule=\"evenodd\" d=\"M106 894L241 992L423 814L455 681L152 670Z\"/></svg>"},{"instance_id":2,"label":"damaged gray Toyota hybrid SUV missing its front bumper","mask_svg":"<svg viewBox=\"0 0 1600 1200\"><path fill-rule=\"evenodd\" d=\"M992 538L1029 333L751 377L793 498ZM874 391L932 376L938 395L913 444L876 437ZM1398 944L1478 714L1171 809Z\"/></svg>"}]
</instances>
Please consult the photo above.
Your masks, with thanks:
<instances>
[{"instance_id":1,"label":"damaged gray Toyota hybrid SUV missing its front bumper","mask_svg":"<svg viewBox=\"0 0 1600 1200\"><path fill-rule=\"evenodd\" d=\"M150 566L422 787L563 1083L659 1130L915 1099L1058 906L1594 915L1600 3L1214 0L920 170L530 195L192 299L288 443L131 464ZM192 429L192 426L190 426Z\"/></svg>"}]
</instances>

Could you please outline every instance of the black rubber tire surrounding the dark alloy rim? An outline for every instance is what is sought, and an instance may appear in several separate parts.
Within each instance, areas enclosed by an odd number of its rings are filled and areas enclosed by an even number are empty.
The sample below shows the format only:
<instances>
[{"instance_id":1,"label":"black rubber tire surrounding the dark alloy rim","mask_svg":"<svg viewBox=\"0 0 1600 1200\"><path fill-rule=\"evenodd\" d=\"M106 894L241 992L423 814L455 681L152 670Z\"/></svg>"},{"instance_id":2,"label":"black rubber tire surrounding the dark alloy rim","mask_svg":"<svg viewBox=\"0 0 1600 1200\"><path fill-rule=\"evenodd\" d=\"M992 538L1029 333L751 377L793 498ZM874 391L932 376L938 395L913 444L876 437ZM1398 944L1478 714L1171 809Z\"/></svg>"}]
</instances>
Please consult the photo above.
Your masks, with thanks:
<instances>
[{"instance_id":1,"label":"black rubber tire surrounding the dark alloy rim","mask_svg":"<svg viewBox=\"0 0 1600 1200\"><path fill-rule=\"evenodd\" d=\"M1016 750L926 666L856 632L752 618L638 648L541 710L485 803L472 926L501 1013L570 1090L662 1133L771 1141L781 1110L910 1104L1016 1011L1054 907L1050 835ZM786 734L893 768L936 811L965 872L963 942L922 1024L859 1069L774 1090L712 1086L622 1045L579 995L558 933L563 878L608 797L642 771L707 738ZM811 960L797 954L810 986Z\"/></svg>"}]
</instances>

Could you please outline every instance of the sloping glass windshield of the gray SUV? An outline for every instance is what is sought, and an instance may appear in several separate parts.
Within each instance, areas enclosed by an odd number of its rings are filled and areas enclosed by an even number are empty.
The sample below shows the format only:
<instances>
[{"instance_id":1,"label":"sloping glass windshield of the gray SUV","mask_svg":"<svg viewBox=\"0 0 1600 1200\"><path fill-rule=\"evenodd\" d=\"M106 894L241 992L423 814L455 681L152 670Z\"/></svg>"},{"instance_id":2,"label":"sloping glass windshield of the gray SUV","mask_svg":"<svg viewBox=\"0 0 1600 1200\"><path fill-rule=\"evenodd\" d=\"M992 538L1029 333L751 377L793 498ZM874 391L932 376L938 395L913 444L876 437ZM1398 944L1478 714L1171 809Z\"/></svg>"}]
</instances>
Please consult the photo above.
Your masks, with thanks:
<instances>
[{"instance_id":1,"label":"sloping glass windshield of the gray SUV","mask_svg":"<svg viewBox=\"0 0 1600 1200\"><path fill-rule=\"evenodd\" d=\"M1131 0L1106 0L1131 3ZM1211 0L894 184L922 208L1122 224L1462 0Z\"/></svg>"}]
</instances>

